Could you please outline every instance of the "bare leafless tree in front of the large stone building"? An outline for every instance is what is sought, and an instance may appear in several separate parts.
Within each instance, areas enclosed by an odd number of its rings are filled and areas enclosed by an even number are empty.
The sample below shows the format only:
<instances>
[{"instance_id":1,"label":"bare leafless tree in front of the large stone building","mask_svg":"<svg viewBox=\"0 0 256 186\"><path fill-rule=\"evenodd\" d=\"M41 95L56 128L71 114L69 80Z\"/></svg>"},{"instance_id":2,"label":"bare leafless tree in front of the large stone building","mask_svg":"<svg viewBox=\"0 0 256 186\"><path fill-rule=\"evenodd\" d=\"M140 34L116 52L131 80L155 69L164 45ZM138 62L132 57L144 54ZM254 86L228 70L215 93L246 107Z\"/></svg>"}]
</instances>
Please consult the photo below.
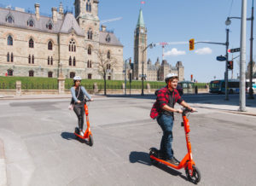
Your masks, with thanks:
<instances>
[{"instance_id":1,"label":"bare leafless tree in front of the large stone building","mask_svg":"<svg viewBox=\"0 0 256 186\"><path fill-rule=\"evenodd\" d=\"M101 49L96 51L96 55L99 60L97 64L98 71L104 79L104 95L107 95L107 75L112 72L117 60L112 55L109 56L108 51L104 52Z\"/></svg>"}]
</instances>

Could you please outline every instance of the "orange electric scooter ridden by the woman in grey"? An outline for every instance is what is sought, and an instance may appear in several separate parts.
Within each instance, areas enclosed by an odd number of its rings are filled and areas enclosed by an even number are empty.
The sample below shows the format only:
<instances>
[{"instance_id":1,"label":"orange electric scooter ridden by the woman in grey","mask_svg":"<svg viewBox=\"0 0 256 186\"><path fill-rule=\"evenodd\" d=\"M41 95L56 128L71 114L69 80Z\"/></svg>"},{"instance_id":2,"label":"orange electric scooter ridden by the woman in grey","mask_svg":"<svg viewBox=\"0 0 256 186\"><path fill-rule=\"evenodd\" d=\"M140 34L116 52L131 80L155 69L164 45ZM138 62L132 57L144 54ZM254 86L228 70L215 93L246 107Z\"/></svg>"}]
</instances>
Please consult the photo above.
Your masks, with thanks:
<instances>
[{"instance_id":1,"label":"orange electric scooter ridden by the woman in grey","mask_svg":"<svg viewBox=\"0 0 256 186\"><path fill-rule=\"evenodd\" d=\"M84 136L81 136L79 127L76 127L75 131L74 131L74 134L75 134L76 137L79 137L82 140L87 139L88 144L90 146L92 146L93 145L93 138L92 138L92 133L90 131L90 123L89 123L89 117L88 117L89 111L88 111L88 107L86 105L86 102L88 102L88 101L86 101L86 100L84 101L84 113L85 113L85 118L86 118L87 129L86 129L86 131L84 131Z\"/></svg>"}]
</instances>

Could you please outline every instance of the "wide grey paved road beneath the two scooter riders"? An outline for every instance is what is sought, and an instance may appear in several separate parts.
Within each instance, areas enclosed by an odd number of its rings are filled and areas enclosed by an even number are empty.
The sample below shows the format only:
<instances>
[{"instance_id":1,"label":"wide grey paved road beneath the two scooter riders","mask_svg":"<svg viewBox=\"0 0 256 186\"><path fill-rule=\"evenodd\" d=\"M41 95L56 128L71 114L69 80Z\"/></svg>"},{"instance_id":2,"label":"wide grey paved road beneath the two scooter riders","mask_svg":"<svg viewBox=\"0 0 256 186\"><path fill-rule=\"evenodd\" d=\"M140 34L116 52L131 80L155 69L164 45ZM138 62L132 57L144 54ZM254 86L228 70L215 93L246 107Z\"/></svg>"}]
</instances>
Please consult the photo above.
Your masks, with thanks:
<instances>
[{"instance_id":1,"label":"wide grey paved road beneath the two scooter riders","mask_svg":"<svg viewBox=\"0 0 256 186\"><path fill-rule=\"evenodd\" d=\"M150 163L148 148L159 148L161 138L160 127L148 116L153 99L101 97L90 102L93 147L75 140L77 119L67 110L68 102L0 102L9 185L191 185L183 170ZM193 157L202 176L199 185L253 185L255 117L192 104L199 111L189 117ZM176 115L177 159L186 153L180 122Z\"/></svg>"}]
</instances>

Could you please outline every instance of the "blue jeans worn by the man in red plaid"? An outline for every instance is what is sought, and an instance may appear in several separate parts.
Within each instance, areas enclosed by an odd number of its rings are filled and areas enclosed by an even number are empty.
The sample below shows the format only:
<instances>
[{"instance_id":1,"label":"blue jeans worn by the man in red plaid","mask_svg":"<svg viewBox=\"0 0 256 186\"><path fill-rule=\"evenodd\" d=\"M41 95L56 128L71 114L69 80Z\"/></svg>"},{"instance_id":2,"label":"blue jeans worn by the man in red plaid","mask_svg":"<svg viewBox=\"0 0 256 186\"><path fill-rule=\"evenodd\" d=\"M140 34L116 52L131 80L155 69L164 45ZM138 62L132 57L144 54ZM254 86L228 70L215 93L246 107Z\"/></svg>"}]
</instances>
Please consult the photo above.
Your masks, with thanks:
<instances>
[{"instance_id":1,"label":"blue jeans worn by the man in red plaid","mask_svg":"<svg viewBox=\"0 0 256 186\"><path fill-rule=\"evenodd\" d=\"M160 152L164 155L166 159L172 159L173 150L172 150L172 125L173 117L161 114L157 118L157 123L160 125L163 130L163 137L160 144Z\"/></svg>"}]
</instances>

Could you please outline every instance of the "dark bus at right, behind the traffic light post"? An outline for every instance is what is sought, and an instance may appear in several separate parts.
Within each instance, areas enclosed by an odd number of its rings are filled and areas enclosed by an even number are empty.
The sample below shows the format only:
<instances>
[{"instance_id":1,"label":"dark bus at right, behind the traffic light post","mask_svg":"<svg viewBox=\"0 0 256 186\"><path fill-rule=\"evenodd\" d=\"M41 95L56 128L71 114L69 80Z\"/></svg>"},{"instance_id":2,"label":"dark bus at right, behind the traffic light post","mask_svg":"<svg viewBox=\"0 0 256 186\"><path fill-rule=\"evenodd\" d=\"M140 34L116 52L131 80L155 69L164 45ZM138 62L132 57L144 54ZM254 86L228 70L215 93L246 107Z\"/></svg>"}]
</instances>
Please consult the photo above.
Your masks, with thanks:
<instances>
[{"instance_id":1,"label":"dark bus at right, behind the traffic light post","mask_svg":"<svg viewBox=\"0 0 256 186\"><path fill-rule=\"evenodd\" d=\"M228 93L229 94L239 93L239 90L240 90L239 84L240 84L239 79L229 79ZM224 79L212 80L210 82L209 91L211 93L218 93L218 94L225 93L225 80Z\"/></svg>"}]
</instances>

